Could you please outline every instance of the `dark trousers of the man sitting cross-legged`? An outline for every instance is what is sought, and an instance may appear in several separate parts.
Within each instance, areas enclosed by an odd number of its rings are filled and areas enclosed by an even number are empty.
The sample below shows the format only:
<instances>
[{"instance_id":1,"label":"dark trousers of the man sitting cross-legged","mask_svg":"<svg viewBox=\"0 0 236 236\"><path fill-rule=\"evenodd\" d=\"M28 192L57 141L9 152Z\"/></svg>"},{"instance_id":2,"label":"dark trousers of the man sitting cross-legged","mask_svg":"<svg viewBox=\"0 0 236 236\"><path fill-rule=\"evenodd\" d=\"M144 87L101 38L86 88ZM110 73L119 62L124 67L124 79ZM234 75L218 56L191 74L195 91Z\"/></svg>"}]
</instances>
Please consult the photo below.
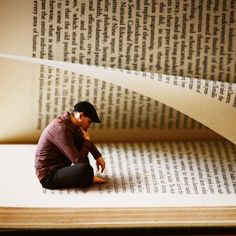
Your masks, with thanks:
<instances>
[{"instance_id":1,"label":"dark trousers of the man sitting cross-legged","mask_svg":"<svg viewBox=\"0 0 236 236\"><path fill-rule=\"evenodd\" d=\"M54 170L40 182L49 189L88 187L92 185L93 177L92 166L88 162L81 162Z\"/></svg>"}]
</instances>

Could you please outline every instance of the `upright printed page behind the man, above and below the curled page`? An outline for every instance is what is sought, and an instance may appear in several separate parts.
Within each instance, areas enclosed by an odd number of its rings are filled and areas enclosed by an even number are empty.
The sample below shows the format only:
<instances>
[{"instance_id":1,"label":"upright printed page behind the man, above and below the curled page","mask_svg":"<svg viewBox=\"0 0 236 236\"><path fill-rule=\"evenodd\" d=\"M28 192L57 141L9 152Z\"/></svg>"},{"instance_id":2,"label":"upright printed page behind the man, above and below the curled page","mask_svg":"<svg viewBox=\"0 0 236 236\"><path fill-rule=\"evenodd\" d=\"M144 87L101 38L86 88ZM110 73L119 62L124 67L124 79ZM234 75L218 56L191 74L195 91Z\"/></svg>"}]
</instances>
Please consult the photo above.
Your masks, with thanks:
<instances>
[{"instance_id":1,"label":"upright printed page behind the man, above and below the curled page","mask_svg":"<svg viewBox=\"0 0 236 236\"><path fill-rule=\"evenodd\" d=\"M234 6L231 0L191 4L110 0L97 5L2 0L0 52L234 82ZM128 130L135 134L131 140L140 129L150 140L219 138L202 123L133 90L44 66L2 59L0 65L1 107L10 108L4 121L14 123L18 102L27 107L25 114L19 113L17 127L1 127L1 142L36 142L49 120L71 110L78 100L90 100L101 112L103 123L94 127L96 139L107 134L121 140ZM15 88L18 82L23 88Z\"/></svg>"}]
</instances>

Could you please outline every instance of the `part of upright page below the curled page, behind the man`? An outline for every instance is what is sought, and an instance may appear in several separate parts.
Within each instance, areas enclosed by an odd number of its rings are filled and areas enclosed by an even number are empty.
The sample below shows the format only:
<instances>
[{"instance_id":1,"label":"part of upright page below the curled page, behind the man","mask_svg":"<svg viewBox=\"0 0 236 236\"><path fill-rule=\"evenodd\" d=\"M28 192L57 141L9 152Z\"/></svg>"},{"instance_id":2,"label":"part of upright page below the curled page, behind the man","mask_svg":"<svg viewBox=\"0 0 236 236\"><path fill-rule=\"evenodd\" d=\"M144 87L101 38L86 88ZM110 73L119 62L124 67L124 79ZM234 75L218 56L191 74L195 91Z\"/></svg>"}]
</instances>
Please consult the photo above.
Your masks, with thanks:
<instances>
[{"instance_id":1,"label":"part of upright page below the curled page, behind the man","mask_svg":"<svg viewBox=\"0 0 236 236\"><path fill-rule=\"evenodd\" d=\"M132 90L125 88L123 85L126 83L116 86L109 81L86 77L86 81L89 81L87 83L84 81L84 75L81 77L81 74L68 69L58 71L57 63L56 67L45 67L51 74L43 76L38 81L40 66L33 64L33 61L24 63L4 57L6 55L1 54L0 77L1 81L5 81L6 78L7 80L0 87L0 105L6 112L2 113L1 119L2 124L13 125L2 125L1 143L36 143L50 120L63 111L71 112L73 105L81 98L89 100L97 107L102 124L94 125L91 130L93 138L98 142L220 138L215 132L207 130L193 119L188 119L183 113L178 112L175 116L175 112L157 100L150 97L146 100L144 95L132 92L134 87ZM96 73L96 67L91 67L89 71L92 68ZM110 76L107 70L104 72L102 79ZM74 78L72 80L68 79L68 75L71 74ZM119 74L121 78L128 76L125 72ZM158 103L158 107L155 108L152 101ZM148 111L144 106L149 107Z\"/></svg>"}]
</instances>

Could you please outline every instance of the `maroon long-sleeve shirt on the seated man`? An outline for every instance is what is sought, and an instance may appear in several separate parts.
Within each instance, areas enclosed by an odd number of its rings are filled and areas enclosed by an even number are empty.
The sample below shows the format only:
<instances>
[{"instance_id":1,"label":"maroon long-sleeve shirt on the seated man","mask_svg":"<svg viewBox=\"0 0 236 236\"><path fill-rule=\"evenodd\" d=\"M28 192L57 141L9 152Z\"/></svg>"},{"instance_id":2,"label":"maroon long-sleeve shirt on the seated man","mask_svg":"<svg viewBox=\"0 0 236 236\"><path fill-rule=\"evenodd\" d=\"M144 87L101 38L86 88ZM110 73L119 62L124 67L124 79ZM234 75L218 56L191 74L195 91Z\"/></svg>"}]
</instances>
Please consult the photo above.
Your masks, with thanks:
<instances>
[{"instance_id":1,"label":"maroon long-sleeve shirt on the seated man","mask_svg":"<svg viewBox=\"0 0 236 236\"><path fill-rule=\"evenodd\" d=\"M52 120L42 132L35 153L35 169L42 180L55 168L87 161L88 153L95 159L101 156L96 146L83 138L79 127L66 112Z\"/></svg>"}]
</instances>

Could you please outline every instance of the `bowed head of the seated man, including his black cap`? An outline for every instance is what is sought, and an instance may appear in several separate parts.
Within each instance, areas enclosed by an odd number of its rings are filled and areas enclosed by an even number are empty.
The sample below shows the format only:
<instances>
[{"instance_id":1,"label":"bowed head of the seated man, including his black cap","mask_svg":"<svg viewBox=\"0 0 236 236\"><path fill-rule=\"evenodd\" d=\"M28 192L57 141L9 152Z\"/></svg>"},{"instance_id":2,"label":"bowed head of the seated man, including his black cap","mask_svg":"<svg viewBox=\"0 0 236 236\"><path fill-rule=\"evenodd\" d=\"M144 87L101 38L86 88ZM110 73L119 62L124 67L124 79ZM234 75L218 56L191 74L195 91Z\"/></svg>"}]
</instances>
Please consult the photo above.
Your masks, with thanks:
<instances>
[{"instance_id":1,"label":"bowed head of the seated man, including his black cap","mask_svg":"<svg viewBox=\"0 0 236 236\"><path fill-rule=\"evenodd\" d=\"M89 128L91 122L101 123L96 109L87 101L82 101L75 104L73 114L79 122L79 125L85 130Z\"/></svg>"}]
</instances>

